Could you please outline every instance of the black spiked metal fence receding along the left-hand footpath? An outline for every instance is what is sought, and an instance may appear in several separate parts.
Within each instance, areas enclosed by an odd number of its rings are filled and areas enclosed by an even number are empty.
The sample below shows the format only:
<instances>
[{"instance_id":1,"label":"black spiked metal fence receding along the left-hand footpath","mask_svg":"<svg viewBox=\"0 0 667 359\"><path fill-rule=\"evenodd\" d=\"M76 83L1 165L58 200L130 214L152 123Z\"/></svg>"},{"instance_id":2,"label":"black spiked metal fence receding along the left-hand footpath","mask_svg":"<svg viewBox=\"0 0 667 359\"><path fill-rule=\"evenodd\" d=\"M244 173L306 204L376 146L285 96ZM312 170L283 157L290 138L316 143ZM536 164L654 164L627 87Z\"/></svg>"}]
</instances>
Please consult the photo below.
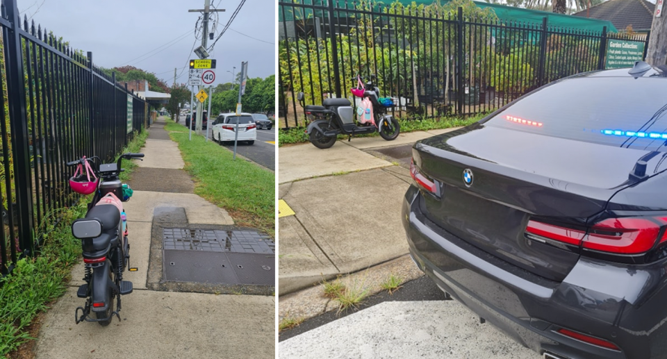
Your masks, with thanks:
<instances>
[{"instance_id":1,"label":"black spiked metal fence receding along the left-hand footpath","mask_svg":"<svg viewBox=\"0 0 667 359\"><path fill-rule=\"evenodd\" d=\"M32 256L44 224L71 206L74 169L82 156L112 161L140 131L148 105L127 92L84 55L42 26L21 19L15 0L2 0L0 31L0 276Z\"/></svg>"}]
</instances>

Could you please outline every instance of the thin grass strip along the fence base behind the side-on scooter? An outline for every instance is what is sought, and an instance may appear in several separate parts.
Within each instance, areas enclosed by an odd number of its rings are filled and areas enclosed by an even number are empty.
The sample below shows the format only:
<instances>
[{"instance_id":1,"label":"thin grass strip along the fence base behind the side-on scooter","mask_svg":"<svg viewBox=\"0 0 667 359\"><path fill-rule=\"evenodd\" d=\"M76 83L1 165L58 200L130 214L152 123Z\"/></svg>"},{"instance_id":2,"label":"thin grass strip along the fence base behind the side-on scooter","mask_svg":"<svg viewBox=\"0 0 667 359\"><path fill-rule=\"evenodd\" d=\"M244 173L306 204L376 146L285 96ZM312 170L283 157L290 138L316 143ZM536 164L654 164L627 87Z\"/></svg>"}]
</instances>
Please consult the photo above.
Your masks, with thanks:
<instances>
[{"instance_id":1,"label":"thin grass strip along the fence base behind the side-on scooter","mask_svg":"<svg viewBox=\"0 0 667 359\"><path fill-rule=\"evenodd\" d=\"M469 124L474 124L480 119L486 116L486 113L481 113L472 117L461 118L461 117L443 117L439 119L399 119L398 122L401 124L401 133L415 132L415 131L429 131L429 130L439 130L443 128L452 128L459 126L468 126ZM278 146L281 147L283 144L296 144L308 142L308 136L304 133L305 129L303 127L294 127L289 130L278 131ZM375 137L379 136L379 133L369 133L367 135L356 135L354 137ZM344 140L347 138L347 135L338 135L339 140Z\"/></svg>"}]
</instances>

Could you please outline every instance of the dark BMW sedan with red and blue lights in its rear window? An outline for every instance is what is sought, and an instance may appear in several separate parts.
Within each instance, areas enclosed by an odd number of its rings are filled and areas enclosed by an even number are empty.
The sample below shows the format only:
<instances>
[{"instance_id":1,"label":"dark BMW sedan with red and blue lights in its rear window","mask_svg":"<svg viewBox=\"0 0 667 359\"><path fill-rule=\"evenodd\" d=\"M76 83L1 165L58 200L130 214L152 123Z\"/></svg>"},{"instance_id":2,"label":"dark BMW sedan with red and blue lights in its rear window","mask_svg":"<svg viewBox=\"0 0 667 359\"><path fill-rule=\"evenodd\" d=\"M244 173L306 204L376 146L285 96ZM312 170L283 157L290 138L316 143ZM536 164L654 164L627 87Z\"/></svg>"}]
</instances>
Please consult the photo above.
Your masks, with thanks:
<instances>
[{"instance_id":1,"label":"dark BMW sedan with red and blue lights in its rear window","mask_svg":"<svg viewBox=\"0 0 667 359\"><path fill-rule=\"evenodd\" d=\"M411 256L546 358L667 358L666 160L667 71L546 85L414 145Z\"/></svg>"}]
</instances>

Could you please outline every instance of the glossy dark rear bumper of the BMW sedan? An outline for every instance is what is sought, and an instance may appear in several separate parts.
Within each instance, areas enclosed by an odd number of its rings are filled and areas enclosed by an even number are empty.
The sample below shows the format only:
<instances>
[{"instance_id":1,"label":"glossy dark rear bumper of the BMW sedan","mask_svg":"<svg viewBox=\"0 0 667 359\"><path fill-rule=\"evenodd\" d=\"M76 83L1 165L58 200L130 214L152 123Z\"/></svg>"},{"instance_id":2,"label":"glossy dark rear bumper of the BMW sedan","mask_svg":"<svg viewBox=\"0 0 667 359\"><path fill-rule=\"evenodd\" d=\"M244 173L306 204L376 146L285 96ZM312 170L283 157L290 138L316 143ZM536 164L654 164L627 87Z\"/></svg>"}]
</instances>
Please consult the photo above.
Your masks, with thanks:
<instances>
[{"instance_id":1,"label":"glossy dark rear bumper of the BMW sedan","mask_svg":"<svg viewBox=\"0 0 667 359\"><path fill-rule=\"evenodd\" d=\"M549 281L481 251L431 222L411 185L402 222L413 260L441 290L517 342L564 358L665 358L666 264L608 265L581 258L563 282ZM614 351L557 333L613 342Z\"/></svg>"}]
</instances>

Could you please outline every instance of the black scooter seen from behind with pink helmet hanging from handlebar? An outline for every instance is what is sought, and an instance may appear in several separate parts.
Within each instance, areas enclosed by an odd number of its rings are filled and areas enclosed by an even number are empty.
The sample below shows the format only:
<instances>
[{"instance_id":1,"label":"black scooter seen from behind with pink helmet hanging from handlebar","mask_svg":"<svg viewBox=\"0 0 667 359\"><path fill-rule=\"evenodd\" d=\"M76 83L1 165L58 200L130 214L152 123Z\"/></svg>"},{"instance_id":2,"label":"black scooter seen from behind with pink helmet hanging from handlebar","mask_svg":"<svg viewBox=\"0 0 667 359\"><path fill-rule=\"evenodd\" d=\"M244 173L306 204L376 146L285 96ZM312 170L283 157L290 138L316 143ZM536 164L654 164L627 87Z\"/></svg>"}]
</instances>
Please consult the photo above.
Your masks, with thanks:
<instances>
[{"instance_id":1,"label":"black scooter seen from behind with pink helmet hanging from handlebar","mask_svg":"<svg viewBox=\"0 0 667 359\"><path fill-rule=\"evenodd\" d=\"M143 153L124 153L117 163L99 165L95 172L100 181L92 201L88 203L88 212L85 218L76 219L72 223L72 235L81 240L85 265L85 284L79 287L76 296L86 298L86 301L83 308L78 307L74 312L76 324L86 321L108 326L114 315L120 321L120 296L132 292L132 282L123 281L123 272L129 266L130 244L125 235L120 211L110 204L95 206L95 203L109 192L123 200L123 187L118 178L120 172L123 172L122 160L142 157ZM67 165L85 166L85 161L90 161L91 167L95 169L94 158L97 157L81 158L67 162ZM129 270L135 272L137 268L130 267ZM117 306L114 310L115 298ZM94 319L90 317L91 311L95 315Z\"/></svg>"}]
</instances>

